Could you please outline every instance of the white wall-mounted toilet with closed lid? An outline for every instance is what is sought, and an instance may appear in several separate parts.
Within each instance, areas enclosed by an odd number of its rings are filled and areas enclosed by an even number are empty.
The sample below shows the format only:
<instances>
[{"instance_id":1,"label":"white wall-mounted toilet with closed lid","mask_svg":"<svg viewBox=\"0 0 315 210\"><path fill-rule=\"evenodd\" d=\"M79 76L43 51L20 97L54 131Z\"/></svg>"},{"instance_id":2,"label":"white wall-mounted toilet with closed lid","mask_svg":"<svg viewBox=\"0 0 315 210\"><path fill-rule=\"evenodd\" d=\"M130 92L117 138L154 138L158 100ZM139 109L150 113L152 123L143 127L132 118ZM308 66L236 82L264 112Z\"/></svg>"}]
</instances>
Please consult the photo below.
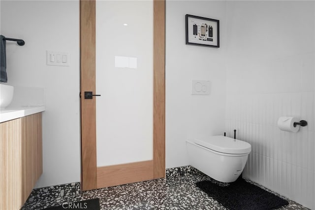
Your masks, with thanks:
<instances>
[{"instance_id":1,"label":"white wall-mounted toilet with closed lid","mask_svg":"<svg viewBox=\"0 0 315 210\"><path fill-rule=\"evenodd\" d=\"M187 140L189 164L221 182L233 182L243 172L251 144L224 136Z\"/></svg>"}]
</instances>

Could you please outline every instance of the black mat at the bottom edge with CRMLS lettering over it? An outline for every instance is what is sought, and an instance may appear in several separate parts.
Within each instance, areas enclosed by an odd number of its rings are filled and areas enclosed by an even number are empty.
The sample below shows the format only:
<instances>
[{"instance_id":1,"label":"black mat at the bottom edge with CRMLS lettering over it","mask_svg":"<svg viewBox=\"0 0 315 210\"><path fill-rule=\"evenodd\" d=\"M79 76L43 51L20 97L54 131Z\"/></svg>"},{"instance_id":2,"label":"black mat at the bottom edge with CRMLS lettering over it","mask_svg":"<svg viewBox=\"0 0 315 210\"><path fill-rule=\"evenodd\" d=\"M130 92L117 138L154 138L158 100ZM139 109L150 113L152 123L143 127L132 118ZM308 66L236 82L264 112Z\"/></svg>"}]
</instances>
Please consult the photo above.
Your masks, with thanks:
<instances>
[{"instance_id":1,"label":"black mat at the bottom edge with CRMLS lettering over it","mask_svg":"<svg viewBox=\"0 0 315 210\"><path fill-rule=\"evenodd\" d=\"M99 210L99 200L98 198L80 201L80 202L71 202L64 203L58 207L49 207L43 210Z\"/></svg>"}]
</instances>

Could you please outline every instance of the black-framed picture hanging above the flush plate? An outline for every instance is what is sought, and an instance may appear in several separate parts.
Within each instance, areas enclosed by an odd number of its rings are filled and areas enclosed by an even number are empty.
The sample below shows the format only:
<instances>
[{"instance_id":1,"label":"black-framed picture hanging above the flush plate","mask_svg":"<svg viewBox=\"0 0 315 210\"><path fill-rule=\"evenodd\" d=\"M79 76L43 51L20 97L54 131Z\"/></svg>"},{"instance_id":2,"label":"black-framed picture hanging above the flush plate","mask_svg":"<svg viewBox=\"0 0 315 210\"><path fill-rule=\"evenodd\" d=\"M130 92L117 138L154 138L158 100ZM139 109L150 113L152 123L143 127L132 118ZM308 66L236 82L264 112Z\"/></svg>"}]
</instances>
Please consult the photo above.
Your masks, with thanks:
<instances>
[{"instance_id":1,"label":"black-framed picture hanging above the flush plate","mask_svg":"<svg viewBox=\"0 0 315 210\"><path fill-rule=\"evenodd\" d=\"M220 47L219 20L186 15L186 44Z\"/></svg>"}]
</instances>

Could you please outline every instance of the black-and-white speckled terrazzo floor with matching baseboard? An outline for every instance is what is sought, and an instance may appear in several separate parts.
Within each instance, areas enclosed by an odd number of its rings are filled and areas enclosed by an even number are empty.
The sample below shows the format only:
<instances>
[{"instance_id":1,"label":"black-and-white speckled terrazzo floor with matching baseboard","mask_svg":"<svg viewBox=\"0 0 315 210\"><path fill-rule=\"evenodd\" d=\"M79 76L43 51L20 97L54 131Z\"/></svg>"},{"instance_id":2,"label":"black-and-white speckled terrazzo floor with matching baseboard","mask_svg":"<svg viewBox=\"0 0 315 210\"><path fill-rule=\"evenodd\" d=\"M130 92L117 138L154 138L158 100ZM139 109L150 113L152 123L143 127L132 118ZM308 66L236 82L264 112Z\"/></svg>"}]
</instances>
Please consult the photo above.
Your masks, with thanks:
<instances>
[{"instance_id":1,"label":"black-and-white speckled terrazzo floor with matching baseboard","mask_svg":"<svg viewBox=\"0 0 315 210\"><path fill-rule=\"evenodd\" d=\"M99 198L101 210L226 210L195 186L195 183L201 180L214 181L188 166L168 169L166 179L160 178L84 192L79 190L79 183L39 188L32 191L22 210L41 210L60 206L65 202L94 198ZM280 210L308 210L296 202L291 200L288 202L289 205Z\"/></svg>"}]
</instances>

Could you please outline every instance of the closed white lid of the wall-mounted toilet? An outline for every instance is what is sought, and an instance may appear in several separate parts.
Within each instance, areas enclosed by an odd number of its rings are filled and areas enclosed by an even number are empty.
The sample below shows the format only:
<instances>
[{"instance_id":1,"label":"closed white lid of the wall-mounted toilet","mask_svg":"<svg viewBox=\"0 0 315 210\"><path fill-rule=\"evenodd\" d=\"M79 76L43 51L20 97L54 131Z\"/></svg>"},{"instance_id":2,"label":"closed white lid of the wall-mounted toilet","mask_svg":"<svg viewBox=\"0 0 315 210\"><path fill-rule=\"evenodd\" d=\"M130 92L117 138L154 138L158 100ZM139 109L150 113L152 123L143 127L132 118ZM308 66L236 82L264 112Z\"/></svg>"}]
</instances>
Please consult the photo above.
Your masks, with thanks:
<instances>
[{"instance_id":1,"label":"closed white lid of the wall-mounted toilet","mask_svg":"<svg viewBox=\"0 0 315 210\"><path fill-rule=\"evenodd\" d=\"M213 136L203 140L194 139L194 142L208 149L227 154L246 154L252 150L252 146L248 142L224 136Z\"/></svg>"}]
</instances>

